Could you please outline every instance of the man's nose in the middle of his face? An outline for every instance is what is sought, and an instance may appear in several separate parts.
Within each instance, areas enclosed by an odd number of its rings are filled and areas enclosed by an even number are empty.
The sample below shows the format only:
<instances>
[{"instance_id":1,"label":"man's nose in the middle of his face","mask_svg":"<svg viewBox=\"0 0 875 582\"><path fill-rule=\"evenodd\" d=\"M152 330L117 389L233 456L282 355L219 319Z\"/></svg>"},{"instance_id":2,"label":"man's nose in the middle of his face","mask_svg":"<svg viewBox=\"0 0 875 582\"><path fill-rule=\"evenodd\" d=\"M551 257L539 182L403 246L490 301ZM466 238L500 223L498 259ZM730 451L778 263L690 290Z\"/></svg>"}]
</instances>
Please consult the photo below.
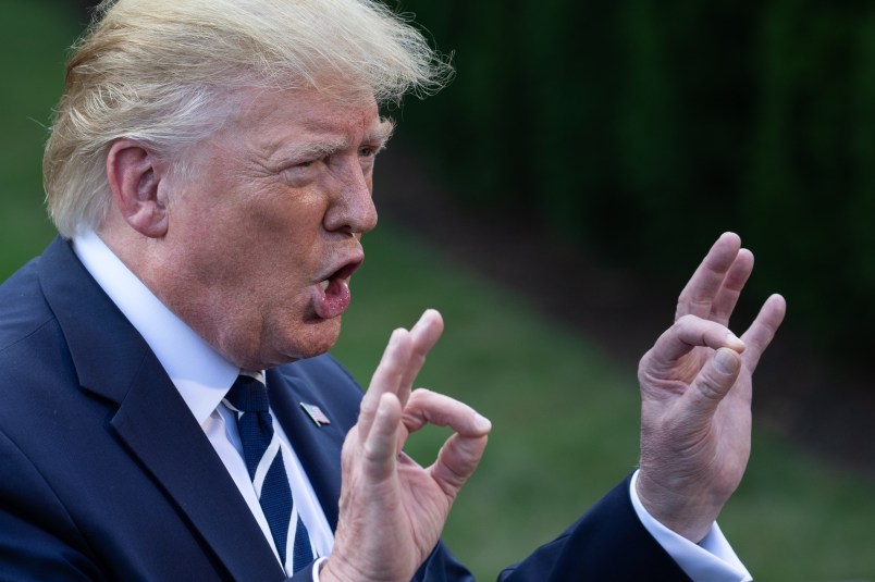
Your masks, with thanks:
<instances>
[{"instance_id":1,"label":"man's nose in the middle of his face","mask_svg":"<svg viewBox=\"0 0 875 582\"><path fill-rule=\"evenodd\" d=\"M373 205L373 182L357 159L344 164L335 176L332 203L325 212L324 226L329 232L362 234L377 226Z\"/></svg>"}]
</instances>

